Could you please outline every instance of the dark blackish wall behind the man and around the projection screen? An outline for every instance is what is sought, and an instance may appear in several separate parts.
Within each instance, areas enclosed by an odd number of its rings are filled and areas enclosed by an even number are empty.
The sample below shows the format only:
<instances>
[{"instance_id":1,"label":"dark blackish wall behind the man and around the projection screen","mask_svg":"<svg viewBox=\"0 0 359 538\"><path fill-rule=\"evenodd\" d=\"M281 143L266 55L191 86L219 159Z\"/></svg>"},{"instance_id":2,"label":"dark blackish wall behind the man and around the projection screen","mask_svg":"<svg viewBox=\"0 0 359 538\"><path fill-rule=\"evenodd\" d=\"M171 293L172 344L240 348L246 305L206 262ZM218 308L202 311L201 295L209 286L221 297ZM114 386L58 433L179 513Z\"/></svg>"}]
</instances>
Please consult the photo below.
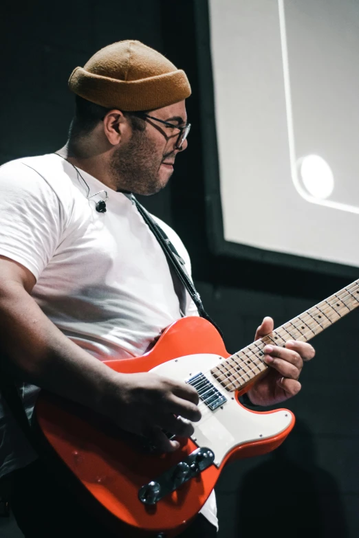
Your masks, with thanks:
<instances>
[{"instance_id":1,"label":"dark blackish wall behind the man and around the projection screen","mask_svg":"<svg viewBox=\"0 0 359 538\"><path fill-rule=\"evenodd\" d=\"M136 38L186 70L193 87L190 144L177 159L170 186L143 201L182 236L228 351L249 344L264 315L278 326L348 283L211 254L203 164L213 148L202 148L192 1L3 2L2 12L1 163L63 146L73 106L67 79L100 47ZM303 389L287 403L297 425L283 447L231 464L221 475L219 538L270 531L283 537L359 536L357 327L354 312L314 340L317 354L305 366Z\"/></svg>"}]
</instances>

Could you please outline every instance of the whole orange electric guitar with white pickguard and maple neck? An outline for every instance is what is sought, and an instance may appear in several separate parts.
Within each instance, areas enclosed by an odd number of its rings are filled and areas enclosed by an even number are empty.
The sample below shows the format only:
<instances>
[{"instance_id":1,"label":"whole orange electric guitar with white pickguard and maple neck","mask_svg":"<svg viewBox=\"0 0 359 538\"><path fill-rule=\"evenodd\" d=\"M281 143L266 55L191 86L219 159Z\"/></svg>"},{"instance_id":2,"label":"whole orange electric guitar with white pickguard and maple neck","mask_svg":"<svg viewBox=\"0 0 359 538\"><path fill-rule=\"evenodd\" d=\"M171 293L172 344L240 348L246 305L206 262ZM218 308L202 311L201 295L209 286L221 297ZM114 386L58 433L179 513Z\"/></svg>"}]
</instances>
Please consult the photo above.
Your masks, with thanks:
<instances>
[{"instance_id":1,"label":"whole orange electric guitar with white pickguard and maple neck","mask_svg":"<svg viewBox=\"0 0 359 538\"><path fill-rule=\"evenodd\" d=\"M264 346L308 341L358 305L356 280L234 355L212 324L184 317L146 355L107 361L118 372L151 371L197 390L202 419L175 452L153 453L137 436L45 391L36 403L37 423L69 474L125 536L173 537L204 506L230 460L272 451L294 426L288 410L257 412L239 403L267 371Z\"/></svg>"}]
</instances>

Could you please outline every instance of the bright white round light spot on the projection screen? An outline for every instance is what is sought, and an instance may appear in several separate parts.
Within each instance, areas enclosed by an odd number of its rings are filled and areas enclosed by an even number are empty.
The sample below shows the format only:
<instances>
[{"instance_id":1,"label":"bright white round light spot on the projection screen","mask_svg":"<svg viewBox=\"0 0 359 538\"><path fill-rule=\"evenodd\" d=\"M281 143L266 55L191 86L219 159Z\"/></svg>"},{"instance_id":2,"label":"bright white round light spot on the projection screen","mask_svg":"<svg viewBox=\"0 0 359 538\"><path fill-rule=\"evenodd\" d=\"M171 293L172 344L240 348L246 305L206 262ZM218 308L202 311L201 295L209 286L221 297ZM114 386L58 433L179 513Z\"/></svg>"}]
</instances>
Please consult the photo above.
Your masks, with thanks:
<instances>
[{"instance_id":1,"label":"bright white round light spot on the projection screen","mask_svg":"<svg viewBox=\"0 0 359 538\"><path fill-rule=\"evenodd\" d=\"M307 155L299 161L301 179L314 198L327 198L334 189L333 172L319 155Z\"/></svg>"}]
</instances>

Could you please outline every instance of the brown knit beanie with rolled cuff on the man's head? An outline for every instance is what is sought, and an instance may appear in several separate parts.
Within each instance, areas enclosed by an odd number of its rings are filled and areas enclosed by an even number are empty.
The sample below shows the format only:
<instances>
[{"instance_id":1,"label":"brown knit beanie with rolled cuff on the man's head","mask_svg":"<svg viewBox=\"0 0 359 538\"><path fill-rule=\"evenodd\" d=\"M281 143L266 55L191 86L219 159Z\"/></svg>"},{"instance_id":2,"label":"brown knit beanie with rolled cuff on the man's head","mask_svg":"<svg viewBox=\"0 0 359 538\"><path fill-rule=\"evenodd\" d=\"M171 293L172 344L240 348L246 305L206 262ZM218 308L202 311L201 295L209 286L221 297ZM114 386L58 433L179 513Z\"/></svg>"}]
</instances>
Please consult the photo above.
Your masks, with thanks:
<instances>
[{"instance_id":1,"label":"brown knit beanie with rolled cuff on the man's head","mask_svg":"<svg viewBox=\"0 0 359 538\"><path fill-rule=\"evenodd\" d=\"M69 89L88 101L122 111L154 110L191 95L184 71L140 41L118 41L76 67Z\"/></svg>"}]
</instances>

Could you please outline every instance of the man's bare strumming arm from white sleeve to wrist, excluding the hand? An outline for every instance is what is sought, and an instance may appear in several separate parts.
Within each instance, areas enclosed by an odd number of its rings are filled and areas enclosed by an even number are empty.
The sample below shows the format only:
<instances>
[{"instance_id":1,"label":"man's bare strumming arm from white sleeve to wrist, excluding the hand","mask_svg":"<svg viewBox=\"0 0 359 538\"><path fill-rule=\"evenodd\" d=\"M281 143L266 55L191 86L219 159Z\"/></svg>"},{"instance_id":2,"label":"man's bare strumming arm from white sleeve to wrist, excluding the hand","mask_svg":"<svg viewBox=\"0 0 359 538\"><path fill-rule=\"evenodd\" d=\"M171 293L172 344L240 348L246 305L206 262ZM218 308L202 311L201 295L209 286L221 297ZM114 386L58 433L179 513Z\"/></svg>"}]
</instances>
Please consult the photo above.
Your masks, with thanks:
<instances>
[{"instance_id":1,"label":"man's bare strumming arm from white sleeve to wrist, excluding the hand","mask_svg":"<svg viewBox=\"0 0 359 538\"><path fill-rule=\"evenodd\" d=\"M36 280L0 256L1 348L13 374L41 388L96 408L113 372L59 330L30 296Z\"/></svg>"}]
</instances>

